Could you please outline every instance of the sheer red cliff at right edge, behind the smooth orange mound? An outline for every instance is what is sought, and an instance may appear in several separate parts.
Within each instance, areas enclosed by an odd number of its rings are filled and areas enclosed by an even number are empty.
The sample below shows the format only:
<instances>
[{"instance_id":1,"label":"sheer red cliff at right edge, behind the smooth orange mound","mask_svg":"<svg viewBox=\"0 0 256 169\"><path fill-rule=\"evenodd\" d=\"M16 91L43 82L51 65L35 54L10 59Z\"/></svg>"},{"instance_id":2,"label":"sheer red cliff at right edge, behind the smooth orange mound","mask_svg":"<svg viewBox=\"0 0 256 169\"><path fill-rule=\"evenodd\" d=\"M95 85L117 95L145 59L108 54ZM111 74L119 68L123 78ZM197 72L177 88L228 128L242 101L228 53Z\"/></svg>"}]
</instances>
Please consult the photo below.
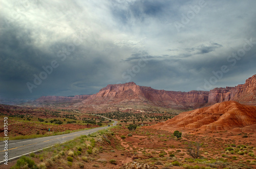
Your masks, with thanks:
<instances>
[{"instance_id":1,"label":"sheer red cliff at right edge, behind the smooth orange mound","mask_svg":"<svg viewBox=\"0 0 256 169\"><path fill-rule=\"evenodd\" d=\"M210 91L208 97L209 103L220 103L229 100L255 105L256 75L248 78L243 85L238 85L236 87L215 88Z\"/></svg>"}]
</instances>

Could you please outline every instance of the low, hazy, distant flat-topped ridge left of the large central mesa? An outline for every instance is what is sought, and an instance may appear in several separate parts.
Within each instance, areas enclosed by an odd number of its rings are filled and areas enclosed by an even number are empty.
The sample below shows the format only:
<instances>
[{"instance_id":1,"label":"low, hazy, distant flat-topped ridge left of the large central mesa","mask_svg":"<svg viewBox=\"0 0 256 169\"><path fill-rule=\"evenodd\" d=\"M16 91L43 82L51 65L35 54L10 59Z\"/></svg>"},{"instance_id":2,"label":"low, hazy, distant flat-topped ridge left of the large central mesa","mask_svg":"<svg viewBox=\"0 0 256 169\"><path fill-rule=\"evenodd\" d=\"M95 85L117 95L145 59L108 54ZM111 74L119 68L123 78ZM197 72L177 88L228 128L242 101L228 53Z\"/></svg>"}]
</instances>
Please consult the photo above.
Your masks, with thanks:
<instances>
[{"instance_id":1,"label":"low, hazy, distant flat-topped ridge left of the large central mesa","mask_svg":"<svg viewBox=\"0 0 256 169\"><path fill-rule=\"evenodd\" d=\"M83 100L87 99L90 95L76 95L76 96L42 96L35 101L69 101L69 100Z\"/></svg>"}]
</instances>

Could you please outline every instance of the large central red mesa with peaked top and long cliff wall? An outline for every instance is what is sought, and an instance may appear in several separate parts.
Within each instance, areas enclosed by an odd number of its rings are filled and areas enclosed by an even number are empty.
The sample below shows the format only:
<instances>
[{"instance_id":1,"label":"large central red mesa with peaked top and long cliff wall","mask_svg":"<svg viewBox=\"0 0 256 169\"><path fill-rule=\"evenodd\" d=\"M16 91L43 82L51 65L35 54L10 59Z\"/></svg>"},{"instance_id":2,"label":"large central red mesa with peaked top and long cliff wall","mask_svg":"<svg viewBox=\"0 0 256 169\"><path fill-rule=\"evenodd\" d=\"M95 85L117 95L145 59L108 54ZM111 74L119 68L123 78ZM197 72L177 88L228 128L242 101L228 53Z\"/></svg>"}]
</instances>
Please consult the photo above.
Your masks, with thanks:
<instances>
[{"instance_id":1,"label":"large central red mesa with peaked top and long cliff wall","mask_svg":"<svg viewBox=\"0 0 256 169\"><path fill-rule=\"evenodd\" d=\"M134 82L108 85L97 94L82 101L82 105L146 103L160 107L186 108L207 103L204 91L174 92L137 86Z\"/></svg>"}]
</instances>

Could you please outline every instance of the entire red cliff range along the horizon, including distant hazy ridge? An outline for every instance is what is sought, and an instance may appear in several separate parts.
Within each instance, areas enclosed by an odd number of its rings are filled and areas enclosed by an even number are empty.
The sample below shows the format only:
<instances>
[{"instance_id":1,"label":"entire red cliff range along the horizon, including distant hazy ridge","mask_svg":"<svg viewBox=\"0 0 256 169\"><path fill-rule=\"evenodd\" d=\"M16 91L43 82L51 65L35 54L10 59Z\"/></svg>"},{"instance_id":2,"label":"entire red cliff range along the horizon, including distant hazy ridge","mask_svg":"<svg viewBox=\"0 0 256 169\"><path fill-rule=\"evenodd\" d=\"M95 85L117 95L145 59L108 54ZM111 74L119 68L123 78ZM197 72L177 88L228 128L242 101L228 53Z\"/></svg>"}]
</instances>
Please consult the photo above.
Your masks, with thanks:
<instances>
[{"instance_id":1,"label":"entire red cliff range along the horizon, including distant hazy ridge","mask_svg":"<svg viewBox=\"0 0 256 169\"><path fill-rule=\"evenodd\" d=\"M36 101L81 100L75 106L149 104L168 108L198 108L206 104L234 100L256 105L256 75L243 85L215 88L210 91L176 92L138 86L134 82L108 85L93 95L42 96Z\"/></svg>"}]
</instances>

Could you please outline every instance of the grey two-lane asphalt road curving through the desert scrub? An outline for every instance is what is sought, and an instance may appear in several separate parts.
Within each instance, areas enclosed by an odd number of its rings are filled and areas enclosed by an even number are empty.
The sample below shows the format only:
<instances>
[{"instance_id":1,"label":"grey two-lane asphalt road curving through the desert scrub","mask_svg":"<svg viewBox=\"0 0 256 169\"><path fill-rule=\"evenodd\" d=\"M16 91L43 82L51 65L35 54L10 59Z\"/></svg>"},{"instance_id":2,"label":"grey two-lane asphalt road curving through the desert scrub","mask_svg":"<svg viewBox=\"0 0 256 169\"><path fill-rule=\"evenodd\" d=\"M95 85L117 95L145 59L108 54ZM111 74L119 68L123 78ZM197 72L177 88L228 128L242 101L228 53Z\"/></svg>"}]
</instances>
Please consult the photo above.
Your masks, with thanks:
<instances>
[{"instance_id":1,"label":"grey two-lane asphalt road curving through the desert scrub","mask_svg":"<svg viewBox=\"0 0 256 169\"><path fill-rule=\"evenodd\" d=\"M97 115L99 116L99 115ZM103 116L101 116L103 117ZM103 117L105 118L105 117ZM108 120L112 120L109 118L105 118ZM112 120L114 121L114 120ZM117 121L114 121L113 126L117 124ZM112 127L112 125L110 125ZM0 143L0 164L5 163L5 155L6 152L8 152L8 161L17 159L23 155L27 155L33 152L37 152L49 147L52 147L56 144L61 144L68 142L71 139L74 139L75 137L78 137L80 135L88 135L90 133L94 133L99 130L107 129L106 127L98 127L93 128L89 130L82 130L77 131L73 133L68 134L62 134L62 135L54 135L54 136L48 136L48 137L40 137L40 138L32 138L32 139L19 139L19 140L8 140L8 151L5 151L6 144L4 141Z\"/></svg>"}]
</instances>

